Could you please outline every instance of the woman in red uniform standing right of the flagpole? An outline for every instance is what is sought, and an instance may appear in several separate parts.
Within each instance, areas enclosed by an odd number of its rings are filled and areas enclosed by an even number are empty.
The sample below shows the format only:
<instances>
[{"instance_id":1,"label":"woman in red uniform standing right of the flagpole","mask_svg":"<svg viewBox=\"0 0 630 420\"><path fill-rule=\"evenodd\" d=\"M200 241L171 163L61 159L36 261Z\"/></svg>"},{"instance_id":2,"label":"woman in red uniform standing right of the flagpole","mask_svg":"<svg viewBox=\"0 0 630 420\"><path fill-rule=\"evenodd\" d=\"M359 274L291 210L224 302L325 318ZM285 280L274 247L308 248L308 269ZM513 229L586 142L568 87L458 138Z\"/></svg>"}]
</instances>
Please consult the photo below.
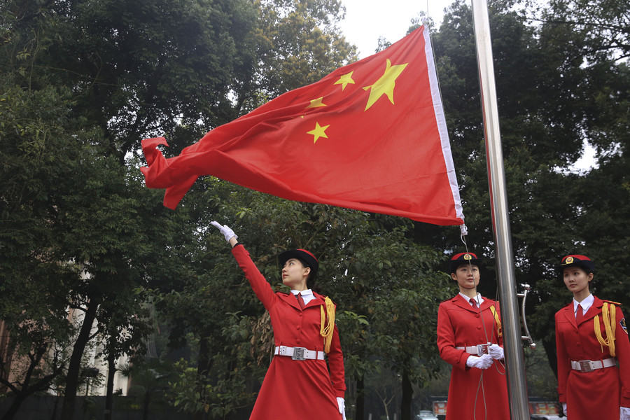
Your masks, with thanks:
<instances>
[{"instance_id":1,"label":"woman in red uniform standing right of the flagpole","mask_svg":"<svg viewBox=\"0 0 630 420\"><path fill-rule=\"evenodd\" d=\"M595 265L585 255L560 262L573 302L556 312L558 395L568 420L630 420L630 342L616 302L591 295ZM617 366L617 361L619 366Z\"/></svg>"}]
</instances>

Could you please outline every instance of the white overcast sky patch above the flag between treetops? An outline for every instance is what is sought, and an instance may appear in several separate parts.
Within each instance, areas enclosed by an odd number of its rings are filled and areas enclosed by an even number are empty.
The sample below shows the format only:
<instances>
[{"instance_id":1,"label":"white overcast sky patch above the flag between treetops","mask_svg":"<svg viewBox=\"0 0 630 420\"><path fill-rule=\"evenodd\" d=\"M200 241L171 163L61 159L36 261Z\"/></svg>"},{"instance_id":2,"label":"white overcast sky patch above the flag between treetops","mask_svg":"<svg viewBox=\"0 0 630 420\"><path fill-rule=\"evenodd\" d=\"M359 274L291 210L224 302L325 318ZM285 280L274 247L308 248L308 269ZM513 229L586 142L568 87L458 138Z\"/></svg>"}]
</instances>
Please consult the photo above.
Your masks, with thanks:
<instances>
[{"instance_id":1,"label":"white overcast sky patch above the flag between treetops","mask_svg":"<svg viewBox=\"0 0 630 420\"><path fill-rule=\"evenodd\" d=\"M442 22L444 8L452 0L341 0L346 18L340 27L346 39L357 46L359 57L374 54L379 36L394 43L405 36L413 18L425 12L435 25Z\"/></svg>"}]
</instances>

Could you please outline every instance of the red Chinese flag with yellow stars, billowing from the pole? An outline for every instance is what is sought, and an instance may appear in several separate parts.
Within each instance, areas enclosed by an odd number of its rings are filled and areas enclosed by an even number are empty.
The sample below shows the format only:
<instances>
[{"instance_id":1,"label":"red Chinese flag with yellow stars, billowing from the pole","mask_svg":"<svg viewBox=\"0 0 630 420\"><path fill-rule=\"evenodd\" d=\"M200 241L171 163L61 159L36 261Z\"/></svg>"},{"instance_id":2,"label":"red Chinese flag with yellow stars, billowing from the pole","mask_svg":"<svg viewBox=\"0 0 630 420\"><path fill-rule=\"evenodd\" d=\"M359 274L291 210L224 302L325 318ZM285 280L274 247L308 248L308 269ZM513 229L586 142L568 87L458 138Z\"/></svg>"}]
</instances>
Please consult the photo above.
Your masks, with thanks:
<instances>
[{"instance_id":1,"label":"red Chinese flag with yellow stars, billowing from the pole","mask_svg":"<svg viewBox=\"0 0 630 420\"><path fill-rule=\"evenodd\" d=\"M282 94L165 159L145 139L148 188L174 209L198 176L288 200L461 225L428 32Z\"/></svg>"}]
</instances>

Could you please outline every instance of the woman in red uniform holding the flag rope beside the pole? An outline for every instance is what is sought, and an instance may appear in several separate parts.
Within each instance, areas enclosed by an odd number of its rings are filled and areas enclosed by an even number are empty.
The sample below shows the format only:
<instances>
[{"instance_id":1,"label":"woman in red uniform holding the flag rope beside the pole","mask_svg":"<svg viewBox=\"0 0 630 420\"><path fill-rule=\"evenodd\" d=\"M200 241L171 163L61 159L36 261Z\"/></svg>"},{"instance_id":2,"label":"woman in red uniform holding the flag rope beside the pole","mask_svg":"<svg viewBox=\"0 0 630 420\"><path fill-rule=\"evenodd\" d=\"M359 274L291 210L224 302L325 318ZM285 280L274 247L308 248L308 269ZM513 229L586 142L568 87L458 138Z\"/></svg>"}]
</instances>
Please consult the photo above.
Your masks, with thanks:
<instances>
[{"instance_id":1,"label":"woman in red uniform holding the flag rope beside the pole","mask_svg":"<svg viewBox=\"0 0 630 420\"><path fill-rule=\"evenodd\" d=\"M437 309L437 348L453 365L447 420L510 419L498 302L477 293L480 260L458 253L449 262L459 293Z\"/></svg>"}]
</instances>

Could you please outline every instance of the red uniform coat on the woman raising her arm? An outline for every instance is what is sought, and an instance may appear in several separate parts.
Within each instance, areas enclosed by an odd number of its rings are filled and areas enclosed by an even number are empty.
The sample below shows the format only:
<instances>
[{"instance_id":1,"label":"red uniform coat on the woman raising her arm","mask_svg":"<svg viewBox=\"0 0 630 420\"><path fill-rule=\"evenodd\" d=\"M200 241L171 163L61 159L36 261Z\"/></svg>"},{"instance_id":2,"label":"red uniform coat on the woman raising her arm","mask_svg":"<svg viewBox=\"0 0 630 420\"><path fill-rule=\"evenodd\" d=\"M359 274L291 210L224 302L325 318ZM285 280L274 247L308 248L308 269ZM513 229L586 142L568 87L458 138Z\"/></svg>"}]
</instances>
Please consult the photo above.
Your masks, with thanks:
<instances>
[{"instance_id":1,"label":"red uniform coat on the woman raising her arm","mask_svg":"<svg viewBox=\"0 0 630 420\"><path fill-rule=\"evenodd\" d=\"M293 294L274 293L244 246L235 246L232 254L245 272L254 293L269 311L276 346L323 351L320 307L324 305L324 296L314 293L315 298L300 309ZM346 383L337 325L328 352L328 365L330 372L325 360L292 360L287 356L274 356L250 419L341 419L336 397L344 396Z\"/></svg>"}]
</instances>

